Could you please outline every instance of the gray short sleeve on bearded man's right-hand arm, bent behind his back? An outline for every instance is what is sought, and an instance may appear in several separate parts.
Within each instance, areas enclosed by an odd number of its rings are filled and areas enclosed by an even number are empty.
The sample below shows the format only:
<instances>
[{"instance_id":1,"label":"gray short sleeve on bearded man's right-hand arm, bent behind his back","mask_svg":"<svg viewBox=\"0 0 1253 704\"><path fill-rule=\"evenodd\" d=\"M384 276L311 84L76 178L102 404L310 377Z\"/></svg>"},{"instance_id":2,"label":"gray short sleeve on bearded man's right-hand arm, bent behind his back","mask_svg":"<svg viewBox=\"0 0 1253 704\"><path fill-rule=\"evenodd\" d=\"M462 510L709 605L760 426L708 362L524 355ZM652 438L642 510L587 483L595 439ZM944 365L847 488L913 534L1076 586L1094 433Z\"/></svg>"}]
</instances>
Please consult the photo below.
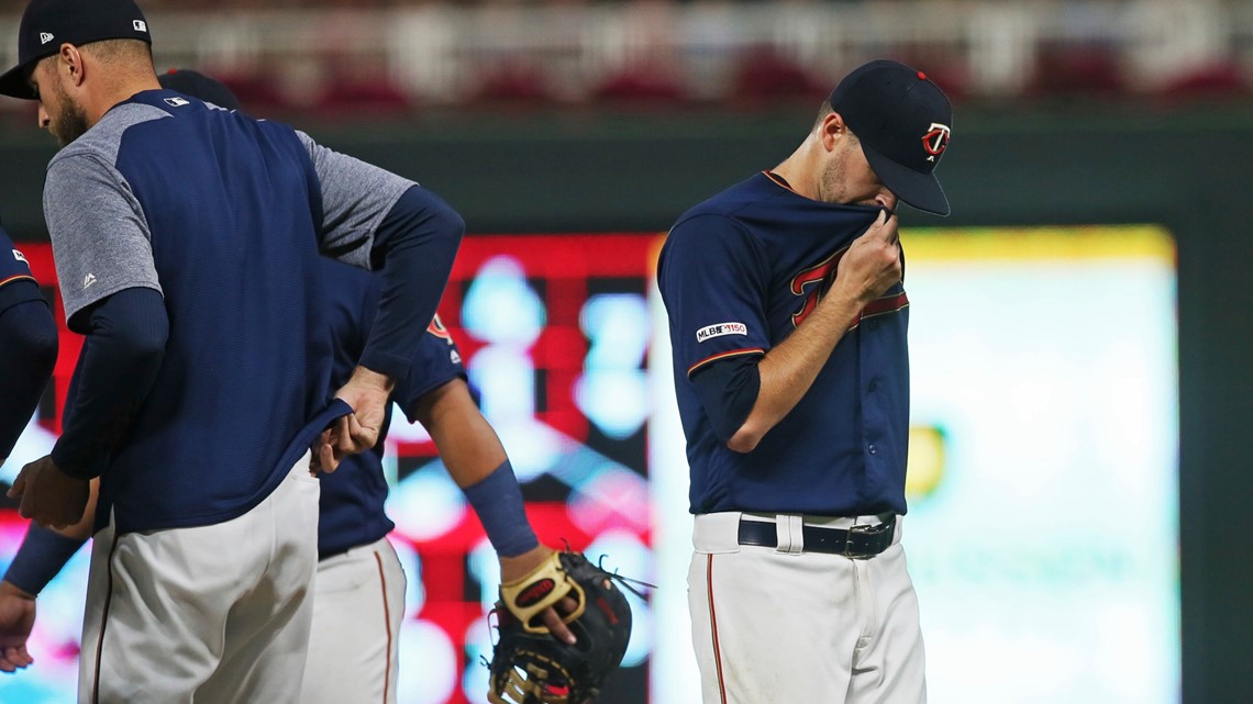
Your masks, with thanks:
<instances>
[{"instance_id":1,"label":"gray short sleeve on bearded man's right-hand arm, bent behind his back","mask_svg":"<svg viewBox=\"0 0 1253 704\"><path fill-rule=\"evenodd\" d=\"M297 130L322 187L322 251L341 262L370 268L375 233L400 197L417 185L361 159L327 149Z\"/></svg>"}]
</instances>

